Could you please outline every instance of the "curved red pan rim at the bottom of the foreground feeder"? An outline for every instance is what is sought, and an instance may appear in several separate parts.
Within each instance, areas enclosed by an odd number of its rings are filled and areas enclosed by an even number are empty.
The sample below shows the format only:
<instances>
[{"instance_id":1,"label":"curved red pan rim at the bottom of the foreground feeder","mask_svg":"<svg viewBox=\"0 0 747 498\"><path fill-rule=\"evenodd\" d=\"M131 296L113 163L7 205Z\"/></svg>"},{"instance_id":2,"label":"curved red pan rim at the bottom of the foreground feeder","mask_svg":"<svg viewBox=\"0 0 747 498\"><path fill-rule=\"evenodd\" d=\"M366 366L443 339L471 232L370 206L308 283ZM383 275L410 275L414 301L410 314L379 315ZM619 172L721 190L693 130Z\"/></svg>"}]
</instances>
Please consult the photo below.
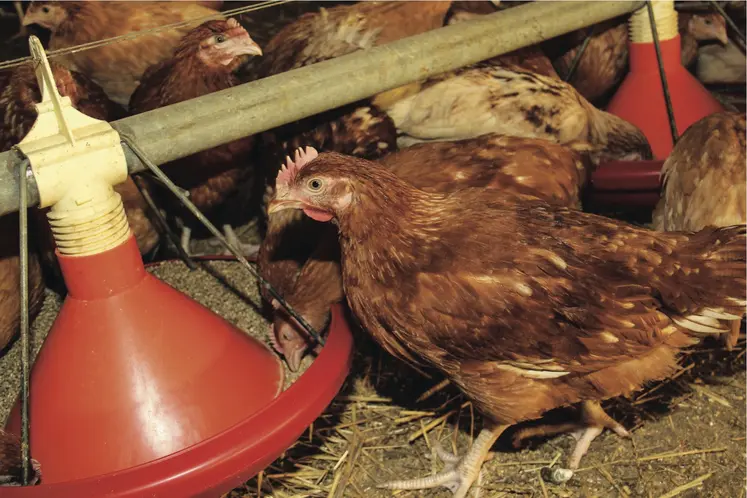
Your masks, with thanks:
<instances>
[{"instance_id":1,"label":"curved red pan rim at the bottom of the foreground feeder","mask_svg":"<svg viewBox=\"0 0 747 498\"><path fill-rule=\"evenodd\" d=\"M266 468L324 411L347 376L352 349L353 339L344 311L339 305L333 306L326 344L309 369L280 396L236 425L137 467L87 479L3 488L2 496L216 498ZM33 384L31 389L33 392ZM32 434L34 429L32 423ZM84 450L80 446L78 451ZM44 472L45 464L41 465Z\"/></svg>"}]
</instances>

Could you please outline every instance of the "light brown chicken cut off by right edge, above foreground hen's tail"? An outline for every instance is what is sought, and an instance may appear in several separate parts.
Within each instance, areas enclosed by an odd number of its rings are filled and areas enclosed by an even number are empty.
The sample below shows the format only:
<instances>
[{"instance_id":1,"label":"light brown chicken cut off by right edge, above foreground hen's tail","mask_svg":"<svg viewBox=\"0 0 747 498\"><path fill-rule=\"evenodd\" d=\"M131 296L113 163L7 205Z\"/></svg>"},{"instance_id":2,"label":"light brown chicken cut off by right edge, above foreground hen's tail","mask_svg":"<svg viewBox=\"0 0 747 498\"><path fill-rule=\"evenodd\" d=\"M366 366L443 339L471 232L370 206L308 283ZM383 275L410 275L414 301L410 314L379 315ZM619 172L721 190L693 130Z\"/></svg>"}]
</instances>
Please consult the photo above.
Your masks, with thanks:
<instances>
[{"instance_id":1,"label":"light brown chicken cut off by right edge, above foreground hen's tail","mask_svg":"<svg viewBox=\"0 0 747 498\"><path fill-rule=\"evenodd\" d=\"M664 189L653 215L656 230L698 231L747 223L745 116L723 112L692 124L664 162ZM741 320L725 336L728 349Z\"/></svg>"}]
</instances>

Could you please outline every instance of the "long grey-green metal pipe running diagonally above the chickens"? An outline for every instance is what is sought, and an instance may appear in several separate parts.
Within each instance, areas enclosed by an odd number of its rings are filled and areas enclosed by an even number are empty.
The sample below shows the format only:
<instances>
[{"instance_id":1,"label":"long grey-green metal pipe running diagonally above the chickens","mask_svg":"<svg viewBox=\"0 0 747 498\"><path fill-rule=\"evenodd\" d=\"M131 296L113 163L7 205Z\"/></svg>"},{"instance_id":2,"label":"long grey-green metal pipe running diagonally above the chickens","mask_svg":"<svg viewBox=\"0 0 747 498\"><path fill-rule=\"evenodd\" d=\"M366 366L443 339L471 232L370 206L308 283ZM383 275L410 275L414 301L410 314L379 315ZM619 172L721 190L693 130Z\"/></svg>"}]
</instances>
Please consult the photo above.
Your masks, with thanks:
<instances>
[{"instance_id":1,"label":"long grey-green metal pipe running diagonally above the chickens","mask_svg":"<svg viewBox=\"0 0 747 498\"><path fill-rule=\"evenodd\" d=\"M611 19L644 1L532 2L112 123L155 164ZM7 157L0 154L0 164ZM131 173L145 170L128 154ZM0 170L0 215L18 190ZM29 203L38 203L29 192Z\"/></svg>"}]
</instances>

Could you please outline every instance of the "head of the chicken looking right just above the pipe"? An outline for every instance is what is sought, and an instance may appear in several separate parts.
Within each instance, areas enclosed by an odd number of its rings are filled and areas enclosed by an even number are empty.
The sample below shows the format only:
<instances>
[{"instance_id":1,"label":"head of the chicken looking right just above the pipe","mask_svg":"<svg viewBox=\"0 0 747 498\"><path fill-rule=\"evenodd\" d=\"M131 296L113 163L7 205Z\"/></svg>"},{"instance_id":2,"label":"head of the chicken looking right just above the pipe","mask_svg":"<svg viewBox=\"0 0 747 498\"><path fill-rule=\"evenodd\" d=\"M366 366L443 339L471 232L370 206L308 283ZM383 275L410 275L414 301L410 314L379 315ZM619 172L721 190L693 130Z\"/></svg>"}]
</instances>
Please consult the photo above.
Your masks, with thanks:
<instances>
[{"instance_id":1,"label":"head of the chicken looking right just above the pipe","mask_svg":"<svg viewBox=\"0 0 747 498\"><path fill-rule=\"evenodd\" d=\"M195 34L203 36L197 56L208 66L235 69L245 57L262 55L262 49L236 19L208 22L203 27L195 30Z\"/></svg>"}]
</instances>

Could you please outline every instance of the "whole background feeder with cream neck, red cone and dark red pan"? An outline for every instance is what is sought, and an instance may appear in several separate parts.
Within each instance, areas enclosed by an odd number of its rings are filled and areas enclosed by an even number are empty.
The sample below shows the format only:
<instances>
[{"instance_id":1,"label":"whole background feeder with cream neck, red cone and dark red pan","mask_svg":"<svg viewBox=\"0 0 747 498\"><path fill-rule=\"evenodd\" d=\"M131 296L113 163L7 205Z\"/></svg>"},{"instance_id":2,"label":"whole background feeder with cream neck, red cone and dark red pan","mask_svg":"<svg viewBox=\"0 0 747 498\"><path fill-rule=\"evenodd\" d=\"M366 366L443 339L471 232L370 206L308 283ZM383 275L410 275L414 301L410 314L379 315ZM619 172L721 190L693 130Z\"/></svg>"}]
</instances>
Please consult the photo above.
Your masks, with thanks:
<instances>
[{"instance_id":1,"label":"whole background feeder with cream neck, red cone and dark red pan","mask_svg":"<svg viewBox=\"0 0 747 498\"><path fill-rule=\"evenodd\" d=\"M592 175L590 200L653 210L661 168L679 134L723 107L682 66L673 0L648 1L628 22L630 71L607 111L641 129L654 160L601 164Z\"/></svg>"}]
</instances>

